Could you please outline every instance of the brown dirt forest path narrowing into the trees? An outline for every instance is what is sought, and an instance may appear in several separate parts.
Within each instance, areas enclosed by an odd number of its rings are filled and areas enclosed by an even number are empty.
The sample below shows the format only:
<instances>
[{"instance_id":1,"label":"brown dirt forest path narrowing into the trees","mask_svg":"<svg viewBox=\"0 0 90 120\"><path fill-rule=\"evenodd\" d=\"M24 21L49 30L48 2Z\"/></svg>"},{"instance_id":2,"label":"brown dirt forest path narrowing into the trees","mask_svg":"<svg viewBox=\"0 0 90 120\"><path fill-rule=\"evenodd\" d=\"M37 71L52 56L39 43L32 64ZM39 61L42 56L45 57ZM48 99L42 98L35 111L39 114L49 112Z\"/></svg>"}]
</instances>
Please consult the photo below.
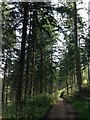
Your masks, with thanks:
<instances>
[{"instance_id":1,"label":"brown dirt forest path narrowing into the trees","mask_svg":"<svg viewBox=\"0 0 90 120\"><path fill-rule=\"evenodd\" d=\"M65 100L60 99L60 101L50 109L43 120L52 118L58 120L76 120L76 115L72 106L66 103Z\"/></svg>"}]
</instances>

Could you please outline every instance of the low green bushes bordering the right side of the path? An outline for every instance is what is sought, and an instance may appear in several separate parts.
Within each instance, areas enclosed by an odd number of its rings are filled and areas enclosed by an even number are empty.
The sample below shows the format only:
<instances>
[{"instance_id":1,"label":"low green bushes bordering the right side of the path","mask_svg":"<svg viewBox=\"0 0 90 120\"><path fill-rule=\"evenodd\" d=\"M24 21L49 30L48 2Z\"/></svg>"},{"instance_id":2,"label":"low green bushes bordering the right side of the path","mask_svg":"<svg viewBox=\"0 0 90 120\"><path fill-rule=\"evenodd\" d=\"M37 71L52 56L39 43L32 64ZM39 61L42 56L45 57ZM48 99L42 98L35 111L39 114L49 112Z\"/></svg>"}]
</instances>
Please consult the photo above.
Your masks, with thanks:
<instances>
[{"instance_id":1,"label":"low green bushes bordering the right side of the path","mask_svg":"<svg viewBox=\"0 0 90 120\"><path fill-rule=\"evenodd\" d=\"M78 113L79 120L88 119L90 120L90 99L88 98L77 98L75 95L66 98L70 104L72 104L75 111Z\"/></svg>"}]
</instances>

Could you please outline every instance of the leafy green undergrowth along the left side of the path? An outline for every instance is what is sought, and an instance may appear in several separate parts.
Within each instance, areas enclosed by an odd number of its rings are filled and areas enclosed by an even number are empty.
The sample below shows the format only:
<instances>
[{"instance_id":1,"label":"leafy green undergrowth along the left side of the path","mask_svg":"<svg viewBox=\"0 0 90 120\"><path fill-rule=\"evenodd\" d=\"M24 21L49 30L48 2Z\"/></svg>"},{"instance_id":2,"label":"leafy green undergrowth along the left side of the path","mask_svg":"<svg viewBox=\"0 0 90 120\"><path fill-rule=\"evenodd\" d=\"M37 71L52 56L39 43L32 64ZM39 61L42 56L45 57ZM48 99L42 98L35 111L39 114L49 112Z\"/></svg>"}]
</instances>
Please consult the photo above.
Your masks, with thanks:
<instances>
[{"instance_id":1,"label":"leafy green undergrowth along the left side of the path","mask_svg":"<svg viewBox=\"0 0 90 120\"><path fill-rule=\"evenodd\" d=\"M18 109L17 118L41 119L48 109L57 102L56 95L41 94L32 99L23 99ZM16 118L15 104L5 105L3 109L4 118Z\"/></svg>"}]
</instances>

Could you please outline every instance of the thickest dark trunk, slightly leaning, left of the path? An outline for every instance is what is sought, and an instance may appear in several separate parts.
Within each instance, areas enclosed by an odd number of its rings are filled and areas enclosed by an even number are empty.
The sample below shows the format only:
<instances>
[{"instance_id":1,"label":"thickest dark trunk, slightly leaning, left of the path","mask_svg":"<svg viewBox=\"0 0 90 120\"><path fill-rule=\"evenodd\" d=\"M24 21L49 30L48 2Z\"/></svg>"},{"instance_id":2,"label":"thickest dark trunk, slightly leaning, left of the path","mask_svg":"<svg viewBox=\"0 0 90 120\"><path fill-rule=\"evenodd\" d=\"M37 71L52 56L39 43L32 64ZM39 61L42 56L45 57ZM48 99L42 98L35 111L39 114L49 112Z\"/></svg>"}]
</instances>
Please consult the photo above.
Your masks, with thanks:
<instances>
[{"instance_id":1,"label":"thickest dark trunk, slightly leaning, left of the path","mask_svg":"<svg viewBox=\"0 0 90 120\"><path fill-rule=\"evenodd\" d=\"M27 35L27 7L28 3L23 3L24 7L24 19L23 19L23 28L22 28L22 42L21 42L21 55L20 55L20 63L19 63L19 73L18 73L18 81L17 81L17 91L16 91L16 103L20 103L22 96L22 84L23 84L23 71L24 71L24 61L25 61L25 45L26 45L26 35Z\"/></svg>"}]
</instances>

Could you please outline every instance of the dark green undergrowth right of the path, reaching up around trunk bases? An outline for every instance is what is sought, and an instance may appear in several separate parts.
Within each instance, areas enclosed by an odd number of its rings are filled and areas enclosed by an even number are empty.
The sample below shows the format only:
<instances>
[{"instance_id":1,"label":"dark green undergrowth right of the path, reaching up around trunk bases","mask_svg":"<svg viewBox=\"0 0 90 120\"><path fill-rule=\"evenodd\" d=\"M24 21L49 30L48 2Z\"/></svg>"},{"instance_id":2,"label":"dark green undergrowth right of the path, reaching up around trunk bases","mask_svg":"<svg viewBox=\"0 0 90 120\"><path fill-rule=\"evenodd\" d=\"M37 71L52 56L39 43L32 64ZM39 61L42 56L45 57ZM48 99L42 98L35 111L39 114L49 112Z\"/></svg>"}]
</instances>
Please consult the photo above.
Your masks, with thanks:
<instances>
[{"instance_id":1,"label":"dark green undergrowth right of the path, reaching up around trunk bases","mask_svg":"<svg viewBox=\"0 0 90 120\"><path fill-rule=\"evenodd\" d=\"M90 120L90 97L87 96L87 90L90 90L88 87L83 87L82 90L85 90L82 96L79 97L79 92L75 92L72 96L67 96L65 99L67 102L72 104L73 108L76 111L77 117L82 119Z\"/></svg>"}]
</instances>

